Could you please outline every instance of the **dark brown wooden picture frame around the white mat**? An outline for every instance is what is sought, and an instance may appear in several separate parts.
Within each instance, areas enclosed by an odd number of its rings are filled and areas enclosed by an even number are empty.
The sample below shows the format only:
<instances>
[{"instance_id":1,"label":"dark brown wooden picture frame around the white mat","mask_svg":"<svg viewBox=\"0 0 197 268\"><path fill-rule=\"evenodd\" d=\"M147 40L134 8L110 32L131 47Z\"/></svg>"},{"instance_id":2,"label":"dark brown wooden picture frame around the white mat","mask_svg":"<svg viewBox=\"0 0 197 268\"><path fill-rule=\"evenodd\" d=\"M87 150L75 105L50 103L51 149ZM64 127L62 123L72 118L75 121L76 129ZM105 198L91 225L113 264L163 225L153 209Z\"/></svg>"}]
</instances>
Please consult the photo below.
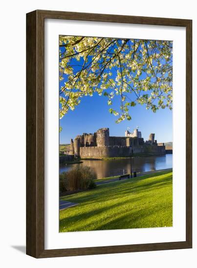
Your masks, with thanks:
<instances>
[{"instance_id":1,"label":"dark brown wooden picture frame around the white mat","mask_svg":"<svg viewBox=\"0 0 197 268\"><path fill-rule=\"evenodd\" d=\"M186 27L186 240L44 249L44 19ZM192 248L192 20L36 10L26 15L26 253L35 258Z\"/></svg>"}]
</instances>

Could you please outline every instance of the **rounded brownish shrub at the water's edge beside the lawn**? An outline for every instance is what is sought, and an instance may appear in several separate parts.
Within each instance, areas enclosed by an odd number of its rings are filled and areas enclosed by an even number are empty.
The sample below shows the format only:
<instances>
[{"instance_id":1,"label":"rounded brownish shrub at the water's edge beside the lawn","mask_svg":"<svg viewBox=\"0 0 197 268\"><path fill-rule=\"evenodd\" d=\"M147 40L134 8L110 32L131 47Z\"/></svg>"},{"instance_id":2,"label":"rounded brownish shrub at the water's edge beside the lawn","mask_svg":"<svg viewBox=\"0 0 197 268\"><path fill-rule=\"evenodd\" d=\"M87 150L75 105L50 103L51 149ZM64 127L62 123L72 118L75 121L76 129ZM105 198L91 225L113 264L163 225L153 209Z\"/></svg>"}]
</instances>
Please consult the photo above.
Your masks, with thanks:
<instances>
[{"instance_id":1,"label":"rounded brownish shrub at the water's edge beside the lawn","mask_svg":"<svg viewBox=\"0 0 197 268\"><path fill-rule=\"evenodd\" d=\"M60 191L89 190L96 187L97 175L87 166L77 166L60 174Z\"/></svg>"}]
</instances>

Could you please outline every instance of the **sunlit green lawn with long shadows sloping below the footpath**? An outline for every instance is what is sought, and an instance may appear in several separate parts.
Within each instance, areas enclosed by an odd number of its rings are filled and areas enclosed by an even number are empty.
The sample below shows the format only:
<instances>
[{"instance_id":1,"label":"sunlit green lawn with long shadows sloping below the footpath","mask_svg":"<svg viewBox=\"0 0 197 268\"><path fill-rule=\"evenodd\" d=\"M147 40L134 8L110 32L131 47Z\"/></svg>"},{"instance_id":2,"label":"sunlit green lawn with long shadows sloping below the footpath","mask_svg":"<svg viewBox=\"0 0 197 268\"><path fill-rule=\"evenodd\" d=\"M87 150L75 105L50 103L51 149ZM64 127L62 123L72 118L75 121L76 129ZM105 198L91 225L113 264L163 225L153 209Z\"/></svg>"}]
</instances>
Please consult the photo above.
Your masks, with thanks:
<instances>
[{"instance_id":1,"label":"sunlit green lawn with long shadows sloping below the footpath","mask_svg":"<svg viewBox=\"0 0 197 268\"><path fill-rule=\"evenodd\" d=\"M158 172L62 197L74 203L60 211L60 232L170 227L172 172Z\"/></svg>"}]
</instances>

